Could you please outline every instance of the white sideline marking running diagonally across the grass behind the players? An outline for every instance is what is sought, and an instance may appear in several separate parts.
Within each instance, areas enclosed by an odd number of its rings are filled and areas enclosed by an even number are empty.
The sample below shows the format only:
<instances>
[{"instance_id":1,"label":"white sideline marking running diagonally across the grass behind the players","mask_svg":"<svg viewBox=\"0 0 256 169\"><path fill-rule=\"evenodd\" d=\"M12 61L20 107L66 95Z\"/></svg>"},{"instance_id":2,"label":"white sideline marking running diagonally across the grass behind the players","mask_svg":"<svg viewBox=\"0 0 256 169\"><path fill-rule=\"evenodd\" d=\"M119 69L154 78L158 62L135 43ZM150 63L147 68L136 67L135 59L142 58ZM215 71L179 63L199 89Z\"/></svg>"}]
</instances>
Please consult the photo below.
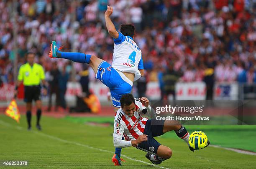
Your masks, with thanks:
<instances>
[{"instance_id":1,"label":"white sideline marking running diagonally across the grass behind the players","mask_svg":"<svg viewBox=\"0 0 256 169\"><path fill-rule=\"evenodd\" d=\"M0 124L4 125L4 126L7 126L7 127L14 127L12 126L10 123L7 123L7 122L4 122L2 120L0 120ZM14 127L15 129L18 129L18 130L26 130L24 129L23 127L20 127L20 126L15 126ZM58 140L60 142L64 142L64 143L69 143L69 144L75 144L77 146L82 146L82 147L87 147L87 148L90 148L90 149L95 149L95 150L98 150L100 152L108 152L108 153L111 153L111 154L114 154L115 152L111 152L111 151L108 151L108 150L105 150L105 149L99 149L99 148L95 148L95 147L91 147L91 146L88 146L86 144L81 144L81 143L77 143L77 142L72 142L72 141L68 141L68 140L64 140L64 139L60 139L58 137L54 137L54 136L51 136L49 134L45 134L45 133L41 133L41 132L37 132L37 131L31 131L33 133L36 133L38 135L41 135L41 136L45 136L45 137L49 137L51 139L55 139L55 140ZM126 156L126 155L123 155L123 157L127 158L127 159L130 159L130 160L133 160L133 161L136 161L136 162L141 162L141 163L144 163L144 164L148 164L148 165L151 165L151 166L154 166L154 167L159 167L159 168L162 168L162 169L169 169L169 168L166 168L166 167L161 167L161 166L158 166L158 165L155 165L155 164L151 164L151 163L148 163L148 162L144 162L144 161L141 161L139 159L133 159L129 156Z\"/></svg>"}]
</instances>

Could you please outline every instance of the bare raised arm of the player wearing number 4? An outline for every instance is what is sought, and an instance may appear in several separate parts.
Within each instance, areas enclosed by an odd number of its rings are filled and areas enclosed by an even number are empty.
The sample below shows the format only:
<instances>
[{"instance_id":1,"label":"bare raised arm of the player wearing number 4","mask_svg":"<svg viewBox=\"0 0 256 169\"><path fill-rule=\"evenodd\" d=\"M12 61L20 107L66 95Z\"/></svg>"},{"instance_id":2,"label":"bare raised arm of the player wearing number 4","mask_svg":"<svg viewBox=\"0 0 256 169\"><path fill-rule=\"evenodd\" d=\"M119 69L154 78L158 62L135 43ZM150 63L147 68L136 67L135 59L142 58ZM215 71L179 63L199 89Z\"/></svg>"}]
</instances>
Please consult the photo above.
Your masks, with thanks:
<instances>
[{"instance_id":1,"label":"bare raised arm of the player wearing number 4","mask_svg":"<svg viewBox=\"0 0 256 169\"><path fill-rule=\"evenodd\" d=\"M112 15L112 13L113 13L113 7L108 6L108 9L105 12L105 21L106 21L106 27L108 29L108 33L110 34L110 36L116 39L118 38L119 34L118 34L118 31L115 30L115 25L110 19L110 16Z\"/></svg>"}]
</instances>

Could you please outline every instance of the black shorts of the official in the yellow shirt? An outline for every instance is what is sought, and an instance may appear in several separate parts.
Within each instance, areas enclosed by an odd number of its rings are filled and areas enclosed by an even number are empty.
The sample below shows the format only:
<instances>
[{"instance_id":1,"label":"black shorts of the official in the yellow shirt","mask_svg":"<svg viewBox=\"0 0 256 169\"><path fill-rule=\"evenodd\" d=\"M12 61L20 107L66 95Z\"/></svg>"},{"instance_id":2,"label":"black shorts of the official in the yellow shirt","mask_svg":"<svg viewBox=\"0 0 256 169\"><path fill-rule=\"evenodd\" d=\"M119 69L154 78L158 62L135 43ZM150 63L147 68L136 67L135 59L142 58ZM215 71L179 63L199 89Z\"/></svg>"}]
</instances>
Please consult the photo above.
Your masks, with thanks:
<instances>
[{"instance_id":1,"label":"black shorts of the official in the yellow shirt","mask_svg":"<svg viewBox=\"0 0 256 169\"><path fill-rule=\"evenodd\" d=\"M32 100L40 100L41 99L41 87L40 86L25 86L24 87L24 101L32 102Z\"/></svg>"}]
</instances>

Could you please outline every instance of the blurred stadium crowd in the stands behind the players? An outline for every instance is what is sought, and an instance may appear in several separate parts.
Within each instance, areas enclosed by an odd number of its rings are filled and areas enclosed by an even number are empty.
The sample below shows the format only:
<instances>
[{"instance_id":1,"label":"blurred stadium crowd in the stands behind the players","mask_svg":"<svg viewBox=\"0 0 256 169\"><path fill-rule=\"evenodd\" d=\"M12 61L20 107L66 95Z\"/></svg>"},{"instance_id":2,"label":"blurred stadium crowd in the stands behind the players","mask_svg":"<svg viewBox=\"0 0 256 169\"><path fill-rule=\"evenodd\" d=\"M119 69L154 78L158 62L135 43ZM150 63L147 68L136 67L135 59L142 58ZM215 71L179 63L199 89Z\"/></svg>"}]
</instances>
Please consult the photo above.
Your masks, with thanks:
<instances>
[{"instance_id":1,"label":"blurred stadium crowd in the stands behind the players","mask_svg":"<svg viewBox=\"0 0 256 169\"><path fill-rule=\"evenodd\" d=\"M108 4L117 30L126 22L136 27L144 81L159 81L161 88L178 80L256 82L256 0L19 0L16 27L12 3L0 2L1 84L13 83L14 28L18 66L26 52L35 52L48 81L54 69L48 57L52 40L64 45L63 51L94 54L111 63L113 40L104 20ZM57 67L70 74L72 64L58 60ZM75 63L74 69L79 80L87 68ZM207 75L214 77L206 80Z\"/></svg>"}]
</instances>

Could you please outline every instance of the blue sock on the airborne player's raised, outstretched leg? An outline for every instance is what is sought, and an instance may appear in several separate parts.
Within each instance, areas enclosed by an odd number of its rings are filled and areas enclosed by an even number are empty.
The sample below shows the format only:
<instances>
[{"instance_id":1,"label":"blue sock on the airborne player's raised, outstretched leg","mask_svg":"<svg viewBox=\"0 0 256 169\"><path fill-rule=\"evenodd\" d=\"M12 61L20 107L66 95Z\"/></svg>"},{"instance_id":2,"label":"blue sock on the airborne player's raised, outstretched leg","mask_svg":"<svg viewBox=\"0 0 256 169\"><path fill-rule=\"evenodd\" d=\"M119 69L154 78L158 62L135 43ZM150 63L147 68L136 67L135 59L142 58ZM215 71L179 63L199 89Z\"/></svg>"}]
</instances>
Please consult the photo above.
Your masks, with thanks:
<instances>
[{"instance_id":1,"label":"blue sock on the airborne player's raised, outstretched leg","mask_svg":"<svg viewBox=\"0 0 256 169\"><path fill-rule=\"evenodd\" d=\"M90 63L91 55L86 55L79 52L60 52L57 51L56 55L58 58L64 58L79 63Z\"/></svg>"}]
</instances>

